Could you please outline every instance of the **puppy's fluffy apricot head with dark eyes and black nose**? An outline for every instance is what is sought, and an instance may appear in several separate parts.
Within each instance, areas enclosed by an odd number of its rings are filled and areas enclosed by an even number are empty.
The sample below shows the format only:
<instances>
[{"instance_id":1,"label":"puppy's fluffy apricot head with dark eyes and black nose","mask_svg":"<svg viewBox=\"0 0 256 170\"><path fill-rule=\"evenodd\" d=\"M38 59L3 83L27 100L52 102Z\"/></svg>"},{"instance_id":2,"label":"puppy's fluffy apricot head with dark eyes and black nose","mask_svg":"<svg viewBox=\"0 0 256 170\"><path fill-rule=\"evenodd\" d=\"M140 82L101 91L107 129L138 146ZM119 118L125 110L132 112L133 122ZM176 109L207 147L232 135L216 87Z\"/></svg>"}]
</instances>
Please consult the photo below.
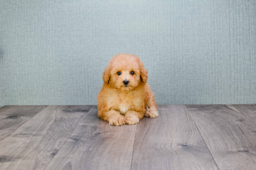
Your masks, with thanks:
<instances>
[{"instance_id":1,"label":"puppy's fluffy apricot head with dark eyes and black nose","mask_svg":"<svg viewBox=\"0 0 256 170\"><path fill-rule=\"evenodd\" d=\"M148 80L147 70L142 61L132 54L118 54L108 63L103 72L103 81L110 86L130 91Z\"/></svg>"}]
</instances>

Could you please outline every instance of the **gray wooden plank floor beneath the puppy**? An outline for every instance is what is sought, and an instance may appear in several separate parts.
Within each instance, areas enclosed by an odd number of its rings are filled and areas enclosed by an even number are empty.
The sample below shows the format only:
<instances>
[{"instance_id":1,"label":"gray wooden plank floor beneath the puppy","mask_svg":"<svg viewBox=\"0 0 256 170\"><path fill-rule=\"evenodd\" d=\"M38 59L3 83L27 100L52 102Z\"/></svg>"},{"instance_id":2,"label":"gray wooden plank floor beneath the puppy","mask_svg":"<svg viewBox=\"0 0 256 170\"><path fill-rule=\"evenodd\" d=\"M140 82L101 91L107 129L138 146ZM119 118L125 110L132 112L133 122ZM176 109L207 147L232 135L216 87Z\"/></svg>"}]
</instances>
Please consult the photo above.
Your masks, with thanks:
<instances>
[{"instance_id":1,"label":"gray wooden plank floor beneath the puppy","mask_svg":"<svg viewBox=\"0 0 256 170\"><path fill-rule=\"evenodd\" d=\"M256 104L159 105L111 126L95 105L0 108L0 169L256 169Z\"/></svg>"}]
</instances>

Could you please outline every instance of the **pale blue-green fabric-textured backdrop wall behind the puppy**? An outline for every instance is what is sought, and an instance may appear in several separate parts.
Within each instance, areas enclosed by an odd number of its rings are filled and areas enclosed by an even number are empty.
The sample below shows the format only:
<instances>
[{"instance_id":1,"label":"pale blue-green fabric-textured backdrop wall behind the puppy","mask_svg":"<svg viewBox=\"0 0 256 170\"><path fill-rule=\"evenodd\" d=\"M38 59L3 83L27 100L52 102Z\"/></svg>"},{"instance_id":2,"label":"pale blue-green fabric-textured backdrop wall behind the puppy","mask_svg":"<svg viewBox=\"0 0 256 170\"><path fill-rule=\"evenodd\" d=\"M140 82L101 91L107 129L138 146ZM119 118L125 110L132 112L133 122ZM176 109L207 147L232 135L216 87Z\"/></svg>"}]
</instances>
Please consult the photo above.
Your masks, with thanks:
<instances>
[{"instance_id":1,"label":"pale blue-green fabric-textured backdrop wall behind the puppy","mask_svg":"<svg viewBox=\"0 0 256 170\"><path fill-rule=\"evenodd\" d=\"M97 104L138 55L158 104L256 103L256 1L0 1L0 106Z\"/></svg>"}]
</instances>

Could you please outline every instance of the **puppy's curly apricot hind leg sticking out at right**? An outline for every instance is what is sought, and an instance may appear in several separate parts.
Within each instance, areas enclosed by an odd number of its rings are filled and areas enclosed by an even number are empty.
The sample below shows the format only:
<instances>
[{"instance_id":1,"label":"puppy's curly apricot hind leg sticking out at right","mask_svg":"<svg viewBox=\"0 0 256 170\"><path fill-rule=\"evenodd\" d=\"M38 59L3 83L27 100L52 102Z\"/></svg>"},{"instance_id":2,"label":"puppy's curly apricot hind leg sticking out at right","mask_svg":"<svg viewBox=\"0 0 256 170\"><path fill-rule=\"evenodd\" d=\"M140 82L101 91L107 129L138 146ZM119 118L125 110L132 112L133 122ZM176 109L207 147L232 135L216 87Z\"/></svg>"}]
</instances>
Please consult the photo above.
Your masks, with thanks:
<instances>
[{"instance_id":1,"label":"puppy's curly apricot hind leg sticking out at right","mask_svg":"<svg viewBox=\"0 0 256 170\"><path fill-rule=\"evenodd\" d=\"M155 102L155 97L153 92L150 89L150 86L147 84L146 86L146 112L145 112L145 117L158 117L158 111L157 111L157 105Z\"/></svg>"}]
</instances>

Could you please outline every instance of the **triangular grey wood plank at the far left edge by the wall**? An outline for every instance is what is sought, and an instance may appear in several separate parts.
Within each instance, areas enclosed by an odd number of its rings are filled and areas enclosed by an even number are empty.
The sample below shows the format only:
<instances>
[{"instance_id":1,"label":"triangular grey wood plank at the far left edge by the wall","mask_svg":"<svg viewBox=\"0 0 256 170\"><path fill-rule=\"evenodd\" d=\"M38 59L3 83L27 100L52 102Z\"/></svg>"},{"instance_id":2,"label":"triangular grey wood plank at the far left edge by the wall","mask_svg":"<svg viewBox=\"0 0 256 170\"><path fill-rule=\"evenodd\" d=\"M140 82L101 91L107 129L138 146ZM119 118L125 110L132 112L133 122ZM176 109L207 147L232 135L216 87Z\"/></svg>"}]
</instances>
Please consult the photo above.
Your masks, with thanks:
<instances>
[{"instance_id":1,"label":"triangular grey wood plank at the far left edge by the wall","mask_svg":"<svg viewBox=\"0 0 256 170\"><path fill-rule=\"evenodd\" d=\"M3 106L0 108L0 141L46 106Z\"/></svg>"}]
</instances>

